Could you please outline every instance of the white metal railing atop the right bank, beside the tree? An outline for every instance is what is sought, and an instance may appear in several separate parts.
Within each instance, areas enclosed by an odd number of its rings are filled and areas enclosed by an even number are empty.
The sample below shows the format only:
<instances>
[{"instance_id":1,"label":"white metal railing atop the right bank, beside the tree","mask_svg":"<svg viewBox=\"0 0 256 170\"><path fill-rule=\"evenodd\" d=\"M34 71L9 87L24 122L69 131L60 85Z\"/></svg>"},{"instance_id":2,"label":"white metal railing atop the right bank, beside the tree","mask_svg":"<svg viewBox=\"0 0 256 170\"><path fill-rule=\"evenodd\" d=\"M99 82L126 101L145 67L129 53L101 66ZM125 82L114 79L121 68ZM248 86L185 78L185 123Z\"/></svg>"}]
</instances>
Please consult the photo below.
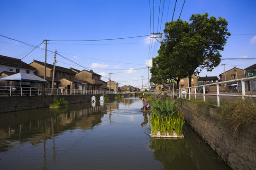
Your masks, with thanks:
<instances>
[{"instance_id":1,"label":"white metal railing atop the right bank, beside the tree","mask_svg":"<svg viewBox=\"0 0 256 170\"><path fill-rule=\"evenodd\" d=\"M218 82L218 83L211 83L211 84L207 84L207 85L199 85L199 86L193 86L193 87L186 87L186 88L182 88L182 89L177 89L177 98L183 98L183 95L184 95L184 98L186 98L188 96L189 100L191 99L191 95L194 95L195 99L197 97L197 95L203 95L203 100L205 101L206 99L206 96L217 96L217 103L218 103L218 106L219 106L219 97L220 96L231 96L231 97L242 97L243 99L245 97L256 97L256 95L251 95L251 94L246 94L246 85L245 85L245 82L251 82L252 80L256 80L256 77L249 77L249 78L241 78L241 79L236 79L236 80L229 80L229 81L223 81L223 82ZM241 94L220 94L219 93L219 85L220 84L226 84L226 87L227 87L227 83L237 83L237 82L241 82ZM205 93L205 87L206 86L214 86L216 85L216 93ZM251 85L251 83L250 83ZM196 93L196 88L198 87L202 87L203 88L203 93ZM252 88L252 87L251 87ZM250 88L250 89L251 89ZM188 89L188 92L186 93L181 93L182 90L187 90ZM191 89L194 89L194 93L191 93Z\"/></svg>"}]
</instances>

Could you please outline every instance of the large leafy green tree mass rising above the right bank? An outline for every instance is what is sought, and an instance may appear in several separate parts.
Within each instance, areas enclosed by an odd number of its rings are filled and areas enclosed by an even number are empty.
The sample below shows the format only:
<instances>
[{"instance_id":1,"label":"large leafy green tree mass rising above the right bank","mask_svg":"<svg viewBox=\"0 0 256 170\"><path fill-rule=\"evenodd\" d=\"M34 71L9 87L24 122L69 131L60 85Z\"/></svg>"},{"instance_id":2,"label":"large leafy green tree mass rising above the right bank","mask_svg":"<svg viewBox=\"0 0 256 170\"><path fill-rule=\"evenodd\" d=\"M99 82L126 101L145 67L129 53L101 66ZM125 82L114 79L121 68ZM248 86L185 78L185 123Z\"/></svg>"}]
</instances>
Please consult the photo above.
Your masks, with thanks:
<instances>
[{"instance_id":1,"label":"large leafy green tree mass rising above the right bank","mask_svg":"<svg viewBox=\"0 0 256 170\"><path fill-rule=\"evenodd\" d=\"M193 14L190 23L182 20L165 23L165 39L159 55L152 59L152 78L165 81L175 78L178 81L186 76L199 74L203 68L212 71L220 63L220 51L224 50L230 36L225 18Z\"/></svg>"}]
</instances>

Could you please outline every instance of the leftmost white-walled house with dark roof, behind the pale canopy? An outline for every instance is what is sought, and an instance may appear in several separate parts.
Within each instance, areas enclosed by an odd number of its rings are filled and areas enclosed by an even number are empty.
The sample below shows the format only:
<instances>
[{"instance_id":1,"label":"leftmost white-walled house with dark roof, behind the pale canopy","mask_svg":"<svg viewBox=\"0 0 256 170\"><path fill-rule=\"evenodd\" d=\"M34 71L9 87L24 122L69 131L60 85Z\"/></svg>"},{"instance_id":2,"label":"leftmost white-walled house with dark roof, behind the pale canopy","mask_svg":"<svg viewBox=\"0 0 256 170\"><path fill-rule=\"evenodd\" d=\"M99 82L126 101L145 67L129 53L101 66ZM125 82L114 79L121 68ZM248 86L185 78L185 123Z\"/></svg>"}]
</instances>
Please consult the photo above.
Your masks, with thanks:
<instances>
[{"instance_id":1,"label":"leftmost white-walled house with dark roof, behind the pale canopy","mask_svg":"<svg viewBox=\"0 0 256 170\"><path fill-rule=\"evenodd\" d=\"M16 73L35 74L36 68L21 61L7 56L0 55L0 78L14 75ZM15 85L17 82L1 81L1 86ZM24 82L26 84L26 82ZM29 83L30 85L30 83Z\"/></svg>"}]
</instances>

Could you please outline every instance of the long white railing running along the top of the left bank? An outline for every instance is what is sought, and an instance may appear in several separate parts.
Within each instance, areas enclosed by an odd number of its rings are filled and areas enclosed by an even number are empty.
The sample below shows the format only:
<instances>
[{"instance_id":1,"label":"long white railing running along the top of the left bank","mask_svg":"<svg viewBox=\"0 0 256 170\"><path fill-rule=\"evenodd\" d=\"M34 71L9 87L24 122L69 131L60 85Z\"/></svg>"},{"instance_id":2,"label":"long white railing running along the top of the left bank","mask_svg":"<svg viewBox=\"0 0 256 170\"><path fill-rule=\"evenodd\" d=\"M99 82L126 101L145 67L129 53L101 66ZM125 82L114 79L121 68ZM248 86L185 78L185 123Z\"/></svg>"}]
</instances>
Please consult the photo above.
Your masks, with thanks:
<instances>
[{"instance_id":1,"label":"long white railing running along the top of the left bank","mask_svg":"<svg viewBox=\"0 0 256 170\"><path fill-rule=\"evenodd\" d=\"M110 92L101 90L82 90L82 89L60 89L42 87L23 87L23 86L0 86L0 94L12 95L77 95L77 94L119 94L120 92Z\"/></svg>"}]
</instances>

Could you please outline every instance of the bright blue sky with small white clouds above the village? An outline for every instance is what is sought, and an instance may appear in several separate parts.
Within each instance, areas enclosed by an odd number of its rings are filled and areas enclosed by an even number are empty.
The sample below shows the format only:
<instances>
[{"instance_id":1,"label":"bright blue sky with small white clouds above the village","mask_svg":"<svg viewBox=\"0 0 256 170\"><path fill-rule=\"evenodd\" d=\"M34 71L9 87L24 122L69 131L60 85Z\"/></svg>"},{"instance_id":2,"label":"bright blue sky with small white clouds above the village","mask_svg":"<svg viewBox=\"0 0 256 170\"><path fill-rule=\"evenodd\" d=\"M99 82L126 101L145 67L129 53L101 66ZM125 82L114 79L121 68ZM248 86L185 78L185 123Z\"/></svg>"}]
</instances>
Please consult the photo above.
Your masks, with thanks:
<instances>
[{"instance_id":1,"label":"bright blue sky with small white clouds above the village","mask_svg":"<svg viewBox=\"0 0 256 170\"><path fill-rule=\"evenodd\" d=\"M144 35L163 32L165 22L172 20L173 12L174 20L178 19L183 2L177 0L174 11L175 0L161 0L159 12L160 0L0 0L0 35L35 46L44 40L142 36L105 41L49 41L47 44L47 50L57 50L63 56L57 55L57 66L92 69L102 75L104 81L108 81L109 74L113 73L111 80L119 86L141 87L142 81L144 86L147 85L146 66L150 65L160 46L159 42ZM236 59L222 60L220 64L226 64L226 70L235 66L244 69L255 64L256 59L248 58L256 58L256 0L186 0L180 18L189 21L193 13L206 12L210 16L226 18L229 23L231 36L221 55L223 59ZM0 55L23 58L22 61L28 64L33 59L45 61L44 43L40 45L41 49L27 55L34 48L21 42L0 36ZM54 53L49 51L47 63L52 64ZM203 70L199 76L219 76L223 72L223 65L219 65L212 72Z\"/></svg>"}]
</instances>

